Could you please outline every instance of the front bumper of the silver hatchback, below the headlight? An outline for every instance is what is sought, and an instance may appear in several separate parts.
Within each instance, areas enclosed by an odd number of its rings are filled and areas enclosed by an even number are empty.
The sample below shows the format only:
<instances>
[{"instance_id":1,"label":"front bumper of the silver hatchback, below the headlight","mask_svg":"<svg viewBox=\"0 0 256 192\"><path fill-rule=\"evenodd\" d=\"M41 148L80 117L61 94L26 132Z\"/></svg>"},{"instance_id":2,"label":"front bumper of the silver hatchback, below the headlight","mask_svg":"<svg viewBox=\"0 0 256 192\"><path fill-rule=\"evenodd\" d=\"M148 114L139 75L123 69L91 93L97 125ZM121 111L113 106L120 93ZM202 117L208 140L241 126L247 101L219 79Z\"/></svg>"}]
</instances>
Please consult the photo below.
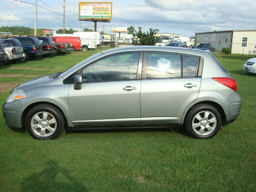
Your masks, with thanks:
<instances>
[{"instance_id":1,"label":"front bumper of the silver hatchback, below the headlight","mask_svg":"<svg viewBox=\"0 0 256 192\"><path fill-rule=\"evenodd\" d=\"M4 103L2 106L2 113L5 123L10 128L22 128L21 117L25 107L19 100Z\"/></svg>"}]
</instances>

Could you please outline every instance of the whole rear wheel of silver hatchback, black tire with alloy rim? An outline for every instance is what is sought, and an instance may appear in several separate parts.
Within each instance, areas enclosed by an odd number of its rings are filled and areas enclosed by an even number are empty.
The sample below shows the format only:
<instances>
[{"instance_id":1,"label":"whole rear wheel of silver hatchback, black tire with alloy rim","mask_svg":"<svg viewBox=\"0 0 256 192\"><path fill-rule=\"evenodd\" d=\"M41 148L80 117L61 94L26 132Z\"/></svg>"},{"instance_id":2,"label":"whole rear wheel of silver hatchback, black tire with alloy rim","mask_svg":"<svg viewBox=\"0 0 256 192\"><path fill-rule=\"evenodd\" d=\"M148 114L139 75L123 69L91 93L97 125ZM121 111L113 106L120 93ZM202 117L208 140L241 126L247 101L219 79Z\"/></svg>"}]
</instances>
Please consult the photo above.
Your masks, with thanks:
<instances>
[{"instance_id":1,"label":"whole rear wheel of silver hatchback, black tire with alloy rim","mask_svg":"<svg viewBox=\"0 0 256 192\"><path fill-rule=\"evenodd\" d=\"M194 124L194 128L192 124ZM194 138L212 138L220 130L221 116L213 106L198 104L188 110L184 126L187 132Z\"/></svg>"}]
</instances>

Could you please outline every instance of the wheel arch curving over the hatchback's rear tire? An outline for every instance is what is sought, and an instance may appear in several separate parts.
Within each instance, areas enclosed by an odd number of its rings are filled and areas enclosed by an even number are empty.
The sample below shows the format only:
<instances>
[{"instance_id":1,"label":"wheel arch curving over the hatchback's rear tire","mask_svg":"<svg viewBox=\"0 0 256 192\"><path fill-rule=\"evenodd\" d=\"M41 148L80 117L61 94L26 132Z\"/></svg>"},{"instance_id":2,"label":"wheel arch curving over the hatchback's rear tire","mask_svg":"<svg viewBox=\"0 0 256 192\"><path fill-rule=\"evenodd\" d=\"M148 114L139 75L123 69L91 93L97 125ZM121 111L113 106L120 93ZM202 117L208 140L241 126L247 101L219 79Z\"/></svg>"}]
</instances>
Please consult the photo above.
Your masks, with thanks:
<instances>
[{"instance_id":1,"label":"wheel arch curving over the hatchback's rear tire","mask_svg":"<svg viewBox=\"0 0 256 192\"><path fill-rule=\"evenodd\" d=\"M198 103L193 104L192 106L190 106L190 108L187 108L186 111L183 114L183 118L182 118L182 124L184 123L184 120L186 119L186 116L188 114L188 111L193 108L194 106L197 106L199 104L208 104L210 106L213 106L214 108L216 108L216 110L218 110L218 112L220 113L220 117L221 117L221 122L222 125L226 125L226 114L224 112L224 109L222 108L222 106L220 106L220 104L218 104L217 102L214 101L200 101ZM185 114L186 113L186 114Z\"/></svg>"}]
</instances>

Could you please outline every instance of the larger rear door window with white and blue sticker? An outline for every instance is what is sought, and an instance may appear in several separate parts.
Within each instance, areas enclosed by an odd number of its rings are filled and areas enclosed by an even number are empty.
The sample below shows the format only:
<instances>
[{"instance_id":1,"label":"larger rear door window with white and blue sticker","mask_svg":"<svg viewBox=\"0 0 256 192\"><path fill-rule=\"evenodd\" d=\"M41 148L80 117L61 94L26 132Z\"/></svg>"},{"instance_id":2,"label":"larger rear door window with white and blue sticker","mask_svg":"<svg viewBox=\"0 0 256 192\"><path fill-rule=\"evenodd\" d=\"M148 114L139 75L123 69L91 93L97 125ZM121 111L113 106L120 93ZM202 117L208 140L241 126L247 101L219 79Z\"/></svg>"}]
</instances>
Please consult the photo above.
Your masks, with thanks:
<instances>
[{"instance_id":1,"label":"larger rear door window with white and blue sticker","mask_svg":"<svg viewBox=\"0 0 256 192\"><path fill-rule=\"evenodd\" d=\"M147 78L173 78L181 76L178 54L147 53Z\"/></svg>"}]
</instances>

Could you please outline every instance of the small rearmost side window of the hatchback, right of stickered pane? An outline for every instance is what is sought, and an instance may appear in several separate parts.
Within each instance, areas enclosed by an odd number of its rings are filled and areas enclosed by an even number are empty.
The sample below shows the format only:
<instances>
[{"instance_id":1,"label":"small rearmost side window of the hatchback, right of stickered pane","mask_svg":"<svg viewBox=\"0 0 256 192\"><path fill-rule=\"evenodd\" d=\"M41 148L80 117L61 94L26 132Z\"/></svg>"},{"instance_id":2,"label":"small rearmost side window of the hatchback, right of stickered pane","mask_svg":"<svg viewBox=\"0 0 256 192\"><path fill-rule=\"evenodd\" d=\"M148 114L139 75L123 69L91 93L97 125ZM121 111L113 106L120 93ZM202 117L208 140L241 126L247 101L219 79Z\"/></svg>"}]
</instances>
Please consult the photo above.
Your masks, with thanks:
<instances>
[{"instance_id":1,"label":"small rearmost side window of the hatchback, right of stickered pane","mask_svg":"<svg viewBox=\"0 0 256 192\"><path fill-rule=\"evenodd\" d=\"M198 57L183 55L182 63L183 63L183 77L196 76Z\"/></svg>"}]
</instances>

